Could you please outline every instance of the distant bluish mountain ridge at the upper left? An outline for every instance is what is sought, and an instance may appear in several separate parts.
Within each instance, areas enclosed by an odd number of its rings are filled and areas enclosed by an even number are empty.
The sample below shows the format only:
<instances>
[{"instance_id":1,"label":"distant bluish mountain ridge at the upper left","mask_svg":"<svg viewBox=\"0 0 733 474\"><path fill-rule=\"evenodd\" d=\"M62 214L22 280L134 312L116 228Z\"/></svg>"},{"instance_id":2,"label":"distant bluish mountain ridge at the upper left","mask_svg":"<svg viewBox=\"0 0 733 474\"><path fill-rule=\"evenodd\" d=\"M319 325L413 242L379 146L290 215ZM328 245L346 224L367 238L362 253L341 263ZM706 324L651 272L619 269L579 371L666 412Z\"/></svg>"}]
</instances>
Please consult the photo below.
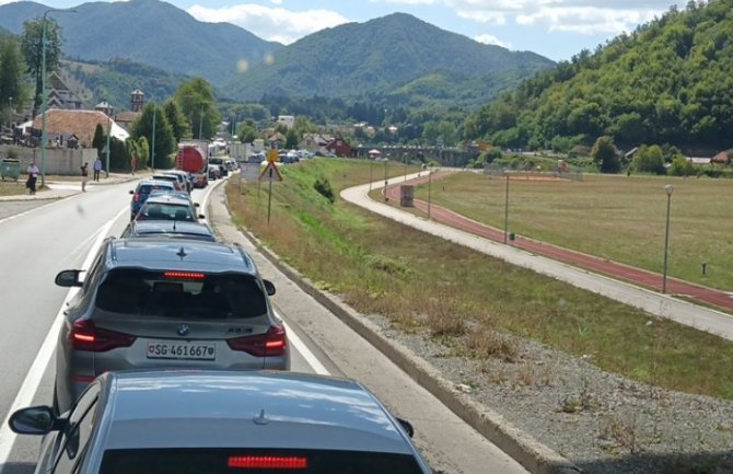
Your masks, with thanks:
<instances>
[{"instance_id":1,"label":"distant bluish mountain ridge at the upper left","mask_svg":"<svg viewBox=\"0 0 733 474\"><path fill-rule=\"evenodd\" d=\"M40 18L35 2L0 5L0 26L15 34L23 22ZM201 76L221 84L240 61L257 63L282 47L229 23L206 23L159 0L88 2L74 13L51 13L63 31L63 53L82 60L126 58L159 69Z\"/></svg>"}]
</instances>

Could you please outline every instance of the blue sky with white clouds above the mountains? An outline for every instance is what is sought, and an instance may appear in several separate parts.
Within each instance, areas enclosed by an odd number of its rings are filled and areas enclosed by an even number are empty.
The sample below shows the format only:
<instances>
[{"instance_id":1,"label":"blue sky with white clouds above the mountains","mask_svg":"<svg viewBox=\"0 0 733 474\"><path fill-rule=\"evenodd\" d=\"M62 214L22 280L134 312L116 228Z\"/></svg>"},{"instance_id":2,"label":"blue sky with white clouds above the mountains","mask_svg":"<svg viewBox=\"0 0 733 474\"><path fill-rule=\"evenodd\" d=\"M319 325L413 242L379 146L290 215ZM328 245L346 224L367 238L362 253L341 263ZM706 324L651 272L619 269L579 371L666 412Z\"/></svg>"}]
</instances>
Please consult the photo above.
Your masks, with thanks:
<instances>
[{"instance_id":1,"label":"blue sky with white clouds above the mountains","mask_svg":"<svg viewBox=\"0 0 733 474\"><path fill-rule=\"evenodd\" d=\"M0 4L10 0L0 0ZM70 8L79 0L40 0ZM440 28L552 60L593 50L621 32L660 16L670 0L167 0L207 22L229 22L263 39L290 44L317 30L365 22L394 12Z\"/></svg>"}]
</instances>

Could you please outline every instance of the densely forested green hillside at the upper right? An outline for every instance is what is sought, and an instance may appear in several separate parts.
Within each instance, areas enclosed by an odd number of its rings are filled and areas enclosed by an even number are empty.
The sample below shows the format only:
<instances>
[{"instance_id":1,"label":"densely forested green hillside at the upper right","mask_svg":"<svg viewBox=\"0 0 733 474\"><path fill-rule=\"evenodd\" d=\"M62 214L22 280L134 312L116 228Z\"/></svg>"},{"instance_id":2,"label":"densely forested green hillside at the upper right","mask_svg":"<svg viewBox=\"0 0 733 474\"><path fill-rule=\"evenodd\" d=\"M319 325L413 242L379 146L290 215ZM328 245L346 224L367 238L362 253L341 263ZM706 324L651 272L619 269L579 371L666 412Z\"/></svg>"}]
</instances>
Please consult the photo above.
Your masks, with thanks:
<instances>
[{"instance_id":1,"label":"densely forested green hillside at the upper right","mask_svg":"<svg viewBox=\"0 0 733 474\"><path fill-rule=\"evenodd\" d=\"M689 2L583 50L480 108L466 136L497 144L569 148L733 144L733 0Z\"/></svg>"}]
</instances>

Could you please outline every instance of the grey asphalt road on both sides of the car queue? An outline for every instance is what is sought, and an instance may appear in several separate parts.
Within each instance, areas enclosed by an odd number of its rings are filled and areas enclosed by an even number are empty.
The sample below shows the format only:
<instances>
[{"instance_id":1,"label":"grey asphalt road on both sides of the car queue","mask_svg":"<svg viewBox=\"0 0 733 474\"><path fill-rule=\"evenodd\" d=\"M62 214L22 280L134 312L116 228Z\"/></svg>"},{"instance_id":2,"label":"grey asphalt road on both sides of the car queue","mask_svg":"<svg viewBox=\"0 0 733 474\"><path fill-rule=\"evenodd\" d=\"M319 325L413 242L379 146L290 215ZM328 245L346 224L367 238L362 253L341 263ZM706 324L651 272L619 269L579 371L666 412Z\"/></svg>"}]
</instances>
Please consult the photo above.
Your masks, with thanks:
<instances>
[{"instance_id":1,"label":"grey asphalt road on both sides of the car queue","mask_svg":"<svg viewBox=\"0 0 733 474\"><path fill-rule=\"evenodd\" d=\"M35 467L39 439L15 437L7 417L15 408L51 401L56 334L69 298L67 289L54 285L54 277L61 269L89 265L106 235L119 235L127 223L131 187L90 187L0 218L0 474L30 474ZM222 239L247 247L263 276L278 288L272 302L289 328L293 370L361 381L415 425L416 442L437 471L526 473L259 255L231 226L220 190L207 206L212 189L195 192L194 199ZM9 212L8 206L2 203L3 211Z\"/></svg>"}]
</instances>

